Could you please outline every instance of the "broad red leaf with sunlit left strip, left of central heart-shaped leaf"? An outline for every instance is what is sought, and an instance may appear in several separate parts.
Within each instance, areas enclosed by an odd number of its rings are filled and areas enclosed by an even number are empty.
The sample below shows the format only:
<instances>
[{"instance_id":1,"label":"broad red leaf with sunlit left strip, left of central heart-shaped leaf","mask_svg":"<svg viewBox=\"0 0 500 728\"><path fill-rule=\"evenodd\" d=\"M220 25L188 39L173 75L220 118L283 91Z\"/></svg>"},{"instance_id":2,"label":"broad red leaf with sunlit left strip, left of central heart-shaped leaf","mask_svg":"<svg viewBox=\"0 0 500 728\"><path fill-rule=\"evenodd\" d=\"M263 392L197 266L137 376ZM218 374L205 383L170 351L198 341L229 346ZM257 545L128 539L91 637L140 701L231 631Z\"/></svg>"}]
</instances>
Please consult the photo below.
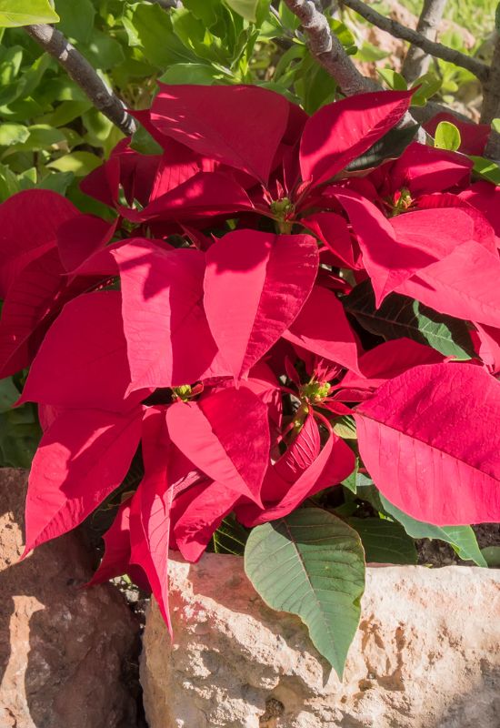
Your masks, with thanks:
<instances>
[{"instance_id":1,"label":"broad red leaf with sunlit left strip, left of central heart-shaped leaf","mask_svg":"<svg viewBox=\"0 0 500 728\"><path fill-rule=\"evenodd\" d=\"M205 255L136 239L113 252L120 268L130 390L200 379L216 346L202 308Z\"/></svg>"}]
</instances>

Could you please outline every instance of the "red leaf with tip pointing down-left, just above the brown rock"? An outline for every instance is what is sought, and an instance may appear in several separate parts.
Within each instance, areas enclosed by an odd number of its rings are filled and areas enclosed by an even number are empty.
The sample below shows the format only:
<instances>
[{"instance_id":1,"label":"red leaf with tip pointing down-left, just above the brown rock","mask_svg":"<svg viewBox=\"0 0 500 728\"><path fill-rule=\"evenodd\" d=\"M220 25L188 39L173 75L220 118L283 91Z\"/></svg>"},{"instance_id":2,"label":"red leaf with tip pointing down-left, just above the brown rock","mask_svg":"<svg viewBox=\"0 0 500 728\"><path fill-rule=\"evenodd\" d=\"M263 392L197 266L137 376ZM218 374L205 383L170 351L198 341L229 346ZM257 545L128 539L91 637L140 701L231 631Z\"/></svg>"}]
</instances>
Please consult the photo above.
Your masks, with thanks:
<instances>
[{"instance_id":1,"label":"red leaf with tip pointing down-left, just above the brown rock","mask_svg":"<svg viewBox=\"0 0 500 728\"><path fill-rule=\"evenodd\" d=\"M46 430L31 467L25 553L71 531L124 480L141 435L126 415L68 410Z\"/></svg>"}]
</instances>

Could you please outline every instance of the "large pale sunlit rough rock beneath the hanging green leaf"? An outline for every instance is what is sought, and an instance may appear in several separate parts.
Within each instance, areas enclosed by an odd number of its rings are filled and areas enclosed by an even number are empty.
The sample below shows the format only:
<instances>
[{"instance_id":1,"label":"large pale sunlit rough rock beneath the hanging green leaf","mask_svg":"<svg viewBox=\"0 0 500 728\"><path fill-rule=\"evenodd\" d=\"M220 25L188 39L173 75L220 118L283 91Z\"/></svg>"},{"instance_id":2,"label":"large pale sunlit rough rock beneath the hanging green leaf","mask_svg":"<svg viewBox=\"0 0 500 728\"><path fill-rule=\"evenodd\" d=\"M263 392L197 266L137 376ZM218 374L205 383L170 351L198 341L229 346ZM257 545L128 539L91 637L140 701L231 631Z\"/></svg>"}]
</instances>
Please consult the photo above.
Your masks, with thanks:
<instances>
[{"instance_id":1,"label":"large pale sunlit rough rock beneath the hanging green leaf","mask_svg":"<svg viewBox=\"0 0 500 728\"><path fill-rule=\"evenodd\" d=\"M174 561L170 580L174 642L146 618L150 728L500 726L500 571L369 568L343 682L238 557Z\"/></svg>"}]
</instances>

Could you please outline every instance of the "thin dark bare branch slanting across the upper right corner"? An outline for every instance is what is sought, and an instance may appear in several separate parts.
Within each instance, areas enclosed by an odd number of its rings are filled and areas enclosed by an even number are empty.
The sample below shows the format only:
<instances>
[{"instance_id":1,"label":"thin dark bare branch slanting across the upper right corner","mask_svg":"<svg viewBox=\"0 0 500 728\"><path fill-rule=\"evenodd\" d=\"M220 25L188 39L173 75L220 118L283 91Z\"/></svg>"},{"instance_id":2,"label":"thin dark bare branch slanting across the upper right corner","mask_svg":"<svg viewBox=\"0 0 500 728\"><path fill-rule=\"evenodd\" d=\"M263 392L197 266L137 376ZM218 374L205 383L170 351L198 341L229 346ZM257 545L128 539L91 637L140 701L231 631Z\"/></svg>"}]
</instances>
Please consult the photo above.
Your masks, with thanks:
<instances>
[{"instance_id":1,"label":"thin dark bare branch slanting across the upper right corner","mask_svg":"<svg viewBox=\"0 0 500 728\"><path fill-rule=\"evenodd\" d=\"M362 0L342 0L342 2L345 7L350 7L351 10L355 11L355 13L364 17L365 20L372 25L376 25L381 30L384 30L385 33L389 33L395 38L407 40L409 43L422 48L425 53L428 53L431 56L441 58L444 61L449 61L450 63L455 64L455 66L466 68L467 71L470 71L472 74L477 76L482 83L487 82L489 68L482 61L478 61L476 58L471 58L470 56L465 56L465 53L455 51L453 48L448 48L446 45L435 43L435 41L425 38L424 35L417 33L416 30L407 28L405 25L401 25L401 23L398 23L390 17L380 15L380 13L377 13L372 7L365 5Z\"/></svg>"}]
</instances>

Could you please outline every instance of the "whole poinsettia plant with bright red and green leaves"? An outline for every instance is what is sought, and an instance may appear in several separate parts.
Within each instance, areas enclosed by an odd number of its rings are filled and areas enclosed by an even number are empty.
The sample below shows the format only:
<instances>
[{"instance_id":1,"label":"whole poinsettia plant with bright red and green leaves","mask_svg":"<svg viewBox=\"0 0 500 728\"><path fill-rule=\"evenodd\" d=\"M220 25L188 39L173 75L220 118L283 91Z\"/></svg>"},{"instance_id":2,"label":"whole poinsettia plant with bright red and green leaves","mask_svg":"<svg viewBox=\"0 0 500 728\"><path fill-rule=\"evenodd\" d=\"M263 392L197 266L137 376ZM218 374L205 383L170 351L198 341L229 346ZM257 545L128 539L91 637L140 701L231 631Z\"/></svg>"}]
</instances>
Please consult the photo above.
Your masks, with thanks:
<instances>
[{"instance_id":1,"label":"whole poinsettia plant with bright red and green leaves","mask_svg":"<svg viewBox=\"0 0 500 728\"><path fill-rule=\"evenodd\" d=\"M264 88L161 86L84 180L107 217L48 190L0 207L0 376L30 366L44 430L26 553L115 499L93 582L128 572L170 625L169 552L245 545L339 673L365 560L431 536L485 565L500 190L395 128L412 93L309 117Z\"/></svg>"}]
</instances>

